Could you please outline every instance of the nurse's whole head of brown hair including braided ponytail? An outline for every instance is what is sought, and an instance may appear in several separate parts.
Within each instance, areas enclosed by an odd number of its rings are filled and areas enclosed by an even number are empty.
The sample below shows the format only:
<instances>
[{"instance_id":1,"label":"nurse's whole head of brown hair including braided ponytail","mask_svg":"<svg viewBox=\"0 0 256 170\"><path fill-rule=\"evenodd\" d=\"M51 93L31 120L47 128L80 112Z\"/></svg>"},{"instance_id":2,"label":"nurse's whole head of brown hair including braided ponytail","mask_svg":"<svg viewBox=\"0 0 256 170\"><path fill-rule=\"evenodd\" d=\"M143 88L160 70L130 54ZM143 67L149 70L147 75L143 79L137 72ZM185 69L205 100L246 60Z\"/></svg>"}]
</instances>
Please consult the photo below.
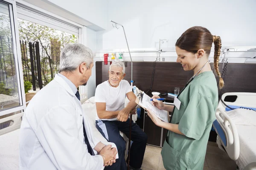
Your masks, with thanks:
<instances>
[{"instance_id":1,"label":"nurse's whole head of brown hair including braided ponytail","mask_svg":"<svg viewBox=\"0 0 256 170\"><path fill-rule=\"evenodd\" d=\"M177 40L175 46L193 54L197 53L199 49L204 49L207 57L209 57L212 42L214 43L214 68L219 77L219 88L222 88L224 81L218 69L219 56L221 54L221 37L212 35L207 28L195 26L186 30Z\"/></svg>"}]
</instances>

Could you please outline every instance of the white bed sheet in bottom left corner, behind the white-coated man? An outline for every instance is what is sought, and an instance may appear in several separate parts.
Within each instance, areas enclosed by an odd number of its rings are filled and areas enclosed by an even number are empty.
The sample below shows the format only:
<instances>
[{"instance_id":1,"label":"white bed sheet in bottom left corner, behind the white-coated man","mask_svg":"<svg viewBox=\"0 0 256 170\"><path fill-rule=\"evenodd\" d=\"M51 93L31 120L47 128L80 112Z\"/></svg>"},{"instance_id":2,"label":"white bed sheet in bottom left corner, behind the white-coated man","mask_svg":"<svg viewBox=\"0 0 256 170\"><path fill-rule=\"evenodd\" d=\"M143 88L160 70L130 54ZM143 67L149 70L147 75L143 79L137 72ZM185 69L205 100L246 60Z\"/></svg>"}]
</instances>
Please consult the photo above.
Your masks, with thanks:
<instances>
[{"instance_id":1,"label":"white bed sheet in bottom left corner, behind the white-coated man","mask_svg":"<svg viewBox=\"0 0 256 170\"><path fill-rule=\"evenodd\" d=\"M20 129L0 136L0 170L19 170Z\"/></svg>"}]
</instances>

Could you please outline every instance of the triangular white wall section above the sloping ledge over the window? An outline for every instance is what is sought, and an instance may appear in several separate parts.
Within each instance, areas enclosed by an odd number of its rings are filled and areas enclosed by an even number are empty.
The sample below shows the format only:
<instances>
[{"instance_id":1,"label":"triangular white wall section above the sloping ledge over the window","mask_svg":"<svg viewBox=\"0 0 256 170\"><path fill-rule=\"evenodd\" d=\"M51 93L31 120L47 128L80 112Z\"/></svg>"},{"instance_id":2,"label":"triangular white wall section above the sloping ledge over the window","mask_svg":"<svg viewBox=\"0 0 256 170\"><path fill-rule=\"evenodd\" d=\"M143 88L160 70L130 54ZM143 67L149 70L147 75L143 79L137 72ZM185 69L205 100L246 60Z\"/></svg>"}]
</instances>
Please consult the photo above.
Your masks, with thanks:
<instances>
[{"instance_id":1,"label":"triangular white wall section above the sloping ledge over the window","mask_svg":"<svg viewBox=\"0 0 256 170\"><path fill-rule=\"evenodd\" d=\"M106 0L44 0L55 4L101 28L106 27Z\"/></svg>"}]
</instances>

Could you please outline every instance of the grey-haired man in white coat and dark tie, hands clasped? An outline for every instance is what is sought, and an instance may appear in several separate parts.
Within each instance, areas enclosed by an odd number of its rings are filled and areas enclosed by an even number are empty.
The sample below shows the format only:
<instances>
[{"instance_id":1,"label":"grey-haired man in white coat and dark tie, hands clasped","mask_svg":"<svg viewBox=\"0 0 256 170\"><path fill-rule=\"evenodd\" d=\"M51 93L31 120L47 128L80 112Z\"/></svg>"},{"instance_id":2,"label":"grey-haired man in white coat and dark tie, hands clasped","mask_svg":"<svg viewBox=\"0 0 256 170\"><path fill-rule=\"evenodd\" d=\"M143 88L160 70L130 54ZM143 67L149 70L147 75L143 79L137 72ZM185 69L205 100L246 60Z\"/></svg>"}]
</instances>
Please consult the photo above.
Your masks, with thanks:
<instances>
[{"instance_id":1,"label":"grey-haired man in white coat and dark tie, hands clasped","mask_svg":"<svg viewBox=\"0 0 256 170\"><path fill-rule=\"evenodd\" d=\"M20 170L102 170L115 163L115 145L106 146L93 136L79 101L77 88L91 76L93 56L77 43L61 51L59 73L24 113Z\"/></svg>"}]
</instances>

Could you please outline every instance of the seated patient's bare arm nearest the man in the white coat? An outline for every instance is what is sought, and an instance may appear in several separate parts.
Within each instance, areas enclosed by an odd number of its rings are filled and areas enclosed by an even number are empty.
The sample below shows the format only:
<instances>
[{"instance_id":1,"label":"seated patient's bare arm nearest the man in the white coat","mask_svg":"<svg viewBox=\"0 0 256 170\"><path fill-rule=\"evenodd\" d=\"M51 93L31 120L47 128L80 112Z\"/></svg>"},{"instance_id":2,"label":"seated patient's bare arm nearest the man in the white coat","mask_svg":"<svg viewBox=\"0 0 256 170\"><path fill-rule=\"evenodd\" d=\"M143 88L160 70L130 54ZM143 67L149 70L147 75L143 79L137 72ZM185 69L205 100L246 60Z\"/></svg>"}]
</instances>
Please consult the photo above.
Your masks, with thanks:
<instances>
[{"instance_id":1,"label":"seated patient's bare arm nearest the man in the white coat","mask_svg":"<svg viewBox=\"0 0 256 170\"><path fill-rule=\"evenodd\" d=\"M99 119L116 118L119 111L106 111L106 103L96 102L97 114Z\"/></svg>"}]
</instances>

